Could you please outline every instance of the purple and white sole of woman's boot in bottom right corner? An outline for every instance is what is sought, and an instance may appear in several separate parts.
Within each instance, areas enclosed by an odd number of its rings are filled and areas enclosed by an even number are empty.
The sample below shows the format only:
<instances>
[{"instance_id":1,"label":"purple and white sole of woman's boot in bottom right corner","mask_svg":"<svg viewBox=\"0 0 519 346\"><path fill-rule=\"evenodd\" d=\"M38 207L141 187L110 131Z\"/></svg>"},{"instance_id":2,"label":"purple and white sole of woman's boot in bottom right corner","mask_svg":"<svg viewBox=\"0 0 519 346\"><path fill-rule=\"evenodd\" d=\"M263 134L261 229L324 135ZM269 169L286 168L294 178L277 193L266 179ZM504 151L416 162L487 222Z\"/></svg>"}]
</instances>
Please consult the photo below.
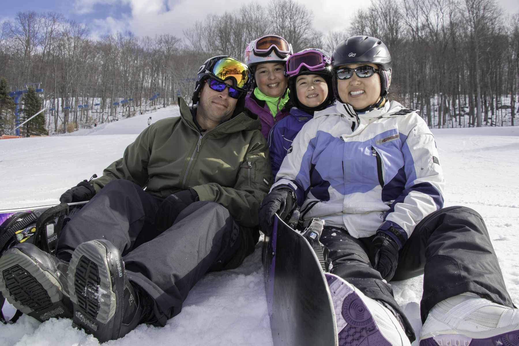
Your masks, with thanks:
<instances>
[{"instance_id":1,"label":"purple and white sole of woman's boot in bottom right corner","mask_svg":"<svg viewBox=\"0 0 519 346\"><path fill-rule=\"evenodd\" d=\"M519 330L515 326L515 330L487 338L442 334L420 340L420 346L519 346Z\"/></svg>"}]
</instances>

